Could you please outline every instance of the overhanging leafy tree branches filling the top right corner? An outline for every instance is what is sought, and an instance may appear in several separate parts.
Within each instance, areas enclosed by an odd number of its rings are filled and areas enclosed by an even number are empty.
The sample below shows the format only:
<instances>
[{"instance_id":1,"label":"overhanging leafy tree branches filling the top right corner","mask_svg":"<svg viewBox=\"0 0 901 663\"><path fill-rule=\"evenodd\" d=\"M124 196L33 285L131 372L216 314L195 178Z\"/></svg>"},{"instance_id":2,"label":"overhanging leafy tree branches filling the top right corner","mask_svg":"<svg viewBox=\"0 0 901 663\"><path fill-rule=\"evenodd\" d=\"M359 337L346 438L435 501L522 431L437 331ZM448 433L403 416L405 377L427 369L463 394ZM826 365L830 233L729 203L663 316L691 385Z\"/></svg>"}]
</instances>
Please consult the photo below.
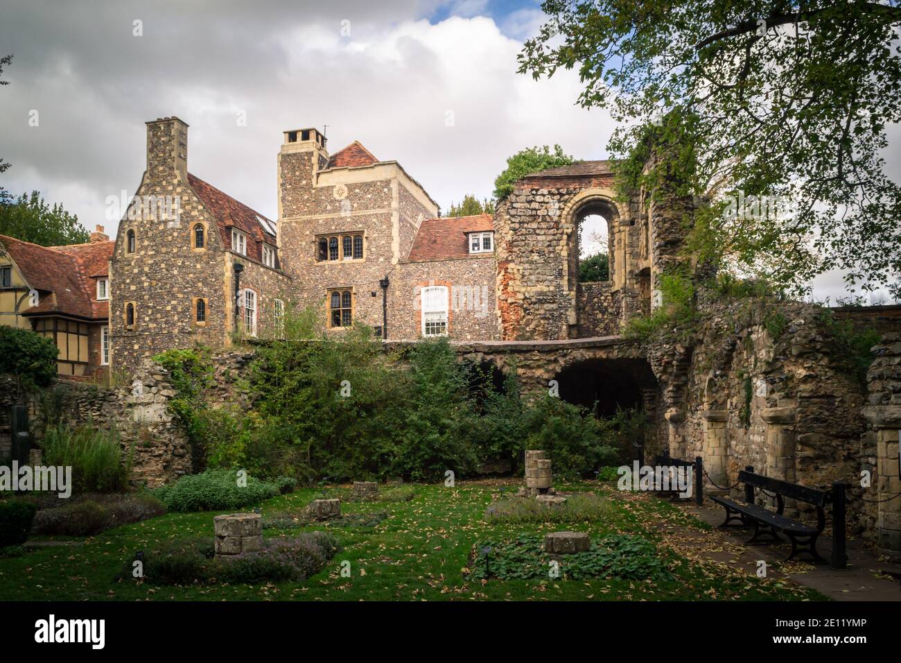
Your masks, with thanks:
<instances>
[{"instance_id":1,"label":"overhanging leafy tree branches filling the top right corner","mask_svg":"<svg viewBox=\"0 0 901 663\"><path fill-rule=\"evenodd\" d=\"M833 268L851 288L901 288L901 189L882 158L886 126L901 120L895 2L547 0L542 9L550 20L524 44L521 72L578 69L579 102L622 123L614 156L641 145L649 125L664 139L685 132L693 193L752 201L737 215L714 205L698 231L726 266L795 288ZM791 209L764 214L760 196Z\"/></svg>"}]
</instances>

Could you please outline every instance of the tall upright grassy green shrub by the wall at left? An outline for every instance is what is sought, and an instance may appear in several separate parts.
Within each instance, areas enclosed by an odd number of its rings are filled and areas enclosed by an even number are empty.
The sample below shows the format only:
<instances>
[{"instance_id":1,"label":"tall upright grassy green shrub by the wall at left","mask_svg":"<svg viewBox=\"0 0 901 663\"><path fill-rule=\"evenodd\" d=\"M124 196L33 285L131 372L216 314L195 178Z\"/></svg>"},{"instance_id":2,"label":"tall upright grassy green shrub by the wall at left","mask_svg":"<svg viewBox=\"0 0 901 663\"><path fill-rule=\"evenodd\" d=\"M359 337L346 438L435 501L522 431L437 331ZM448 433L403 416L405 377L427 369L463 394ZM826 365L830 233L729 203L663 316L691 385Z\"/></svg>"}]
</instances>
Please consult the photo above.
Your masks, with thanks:
<instances>
[{"instance_id":1,"label":"tall upright grassy green shrub by the wall at left","mask_svg":"<svg viewBox=\"0 0 901 663\"><path fill-rule=\"evenodd\" d=\"M131 453L123 458L122 445L113 431L65 424L47 428L41 442L45 465L72 467L72 489L77 493L116 493L128 488Z\"/></svg>"}]
</instances>

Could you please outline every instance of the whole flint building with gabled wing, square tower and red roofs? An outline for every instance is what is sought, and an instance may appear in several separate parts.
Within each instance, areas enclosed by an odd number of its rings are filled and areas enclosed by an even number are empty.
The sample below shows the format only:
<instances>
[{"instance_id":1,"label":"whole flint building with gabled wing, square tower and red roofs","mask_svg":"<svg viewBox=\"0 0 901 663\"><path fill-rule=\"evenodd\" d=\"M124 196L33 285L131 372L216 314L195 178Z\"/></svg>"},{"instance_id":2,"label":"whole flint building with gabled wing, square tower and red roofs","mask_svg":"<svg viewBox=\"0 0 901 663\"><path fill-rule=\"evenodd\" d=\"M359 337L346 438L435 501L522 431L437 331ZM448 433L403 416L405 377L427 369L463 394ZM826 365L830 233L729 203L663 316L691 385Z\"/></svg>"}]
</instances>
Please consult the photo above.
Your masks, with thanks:
<instances>
[{"instance_id":1,"label":"whole flint building with gabled wing, square tower and red roofs","mask_svg":"<svg viewBox=\"0 0 901 663\"><path fill-rule=\"evenodd\" d=\"M490 216L439 218L397 161L359 142L330 154L316 129L284 133L273 222L187 170L187 124L147 123L147 169L112 253L115 370L196 341L278 334L314 306L340 334L496 337Z\"/></svg>"}]
</instances>

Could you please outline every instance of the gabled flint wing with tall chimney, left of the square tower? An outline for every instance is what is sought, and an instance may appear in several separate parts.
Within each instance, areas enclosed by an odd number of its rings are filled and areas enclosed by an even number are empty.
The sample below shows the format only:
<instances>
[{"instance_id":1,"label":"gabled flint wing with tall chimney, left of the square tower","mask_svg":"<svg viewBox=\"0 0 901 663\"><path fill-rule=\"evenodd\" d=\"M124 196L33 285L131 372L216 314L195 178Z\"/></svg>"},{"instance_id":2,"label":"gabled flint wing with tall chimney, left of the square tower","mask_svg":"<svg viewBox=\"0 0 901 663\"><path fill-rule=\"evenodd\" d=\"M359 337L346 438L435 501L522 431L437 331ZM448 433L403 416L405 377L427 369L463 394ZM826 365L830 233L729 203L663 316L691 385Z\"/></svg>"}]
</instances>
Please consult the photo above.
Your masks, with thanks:
<instances>
[{"instance_id":1,"label":"gabled flint wing with tall chimney, left of the square tower","mask_svg":"<svg viewBox=\"0 0 901 663\"><path fill-rule=\"evenodd\" d=\"M110 262L114 370L275 328L291 279L276 224L187 170L187 124L147 123L147 169Z\"/></svg>"}]
</instances>

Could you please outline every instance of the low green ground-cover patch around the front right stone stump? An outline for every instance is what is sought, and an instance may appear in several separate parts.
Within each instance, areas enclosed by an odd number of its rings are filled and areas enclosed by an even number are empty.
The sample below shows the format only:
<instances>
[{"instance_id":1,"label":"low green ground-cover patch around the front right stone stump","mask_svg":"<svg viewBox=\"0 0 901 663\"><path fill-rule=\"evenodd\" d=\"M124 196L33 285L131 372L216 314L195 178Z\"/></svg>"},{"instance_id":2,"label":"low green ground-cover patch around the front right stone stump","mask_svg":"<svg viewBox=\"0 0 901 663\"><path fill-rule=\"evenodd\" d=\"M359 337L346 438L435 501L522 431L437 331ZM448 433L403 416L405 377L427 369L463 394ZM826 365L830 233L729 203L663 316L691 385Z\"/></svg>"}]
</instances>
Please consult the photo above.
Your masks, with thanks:
<instances>
[{"instance_id":1,"label":"low green ground-cover patch around the front right stone stump","mask_svg":"<svg viewBox=\"0 0 901 663\"><path fill-rule=\"evenodd\" d=\"M480 541L473 548L470 576L503 580L547 578L551 556L544 552L541 534L523 534L516 539ZM491 548L485 555L482 550ZM611 534L592 543L587 552L560 558L560 578L623 578L666 580L671 578L657 548L648 539Z\"/></svg>"}]
</instances>

